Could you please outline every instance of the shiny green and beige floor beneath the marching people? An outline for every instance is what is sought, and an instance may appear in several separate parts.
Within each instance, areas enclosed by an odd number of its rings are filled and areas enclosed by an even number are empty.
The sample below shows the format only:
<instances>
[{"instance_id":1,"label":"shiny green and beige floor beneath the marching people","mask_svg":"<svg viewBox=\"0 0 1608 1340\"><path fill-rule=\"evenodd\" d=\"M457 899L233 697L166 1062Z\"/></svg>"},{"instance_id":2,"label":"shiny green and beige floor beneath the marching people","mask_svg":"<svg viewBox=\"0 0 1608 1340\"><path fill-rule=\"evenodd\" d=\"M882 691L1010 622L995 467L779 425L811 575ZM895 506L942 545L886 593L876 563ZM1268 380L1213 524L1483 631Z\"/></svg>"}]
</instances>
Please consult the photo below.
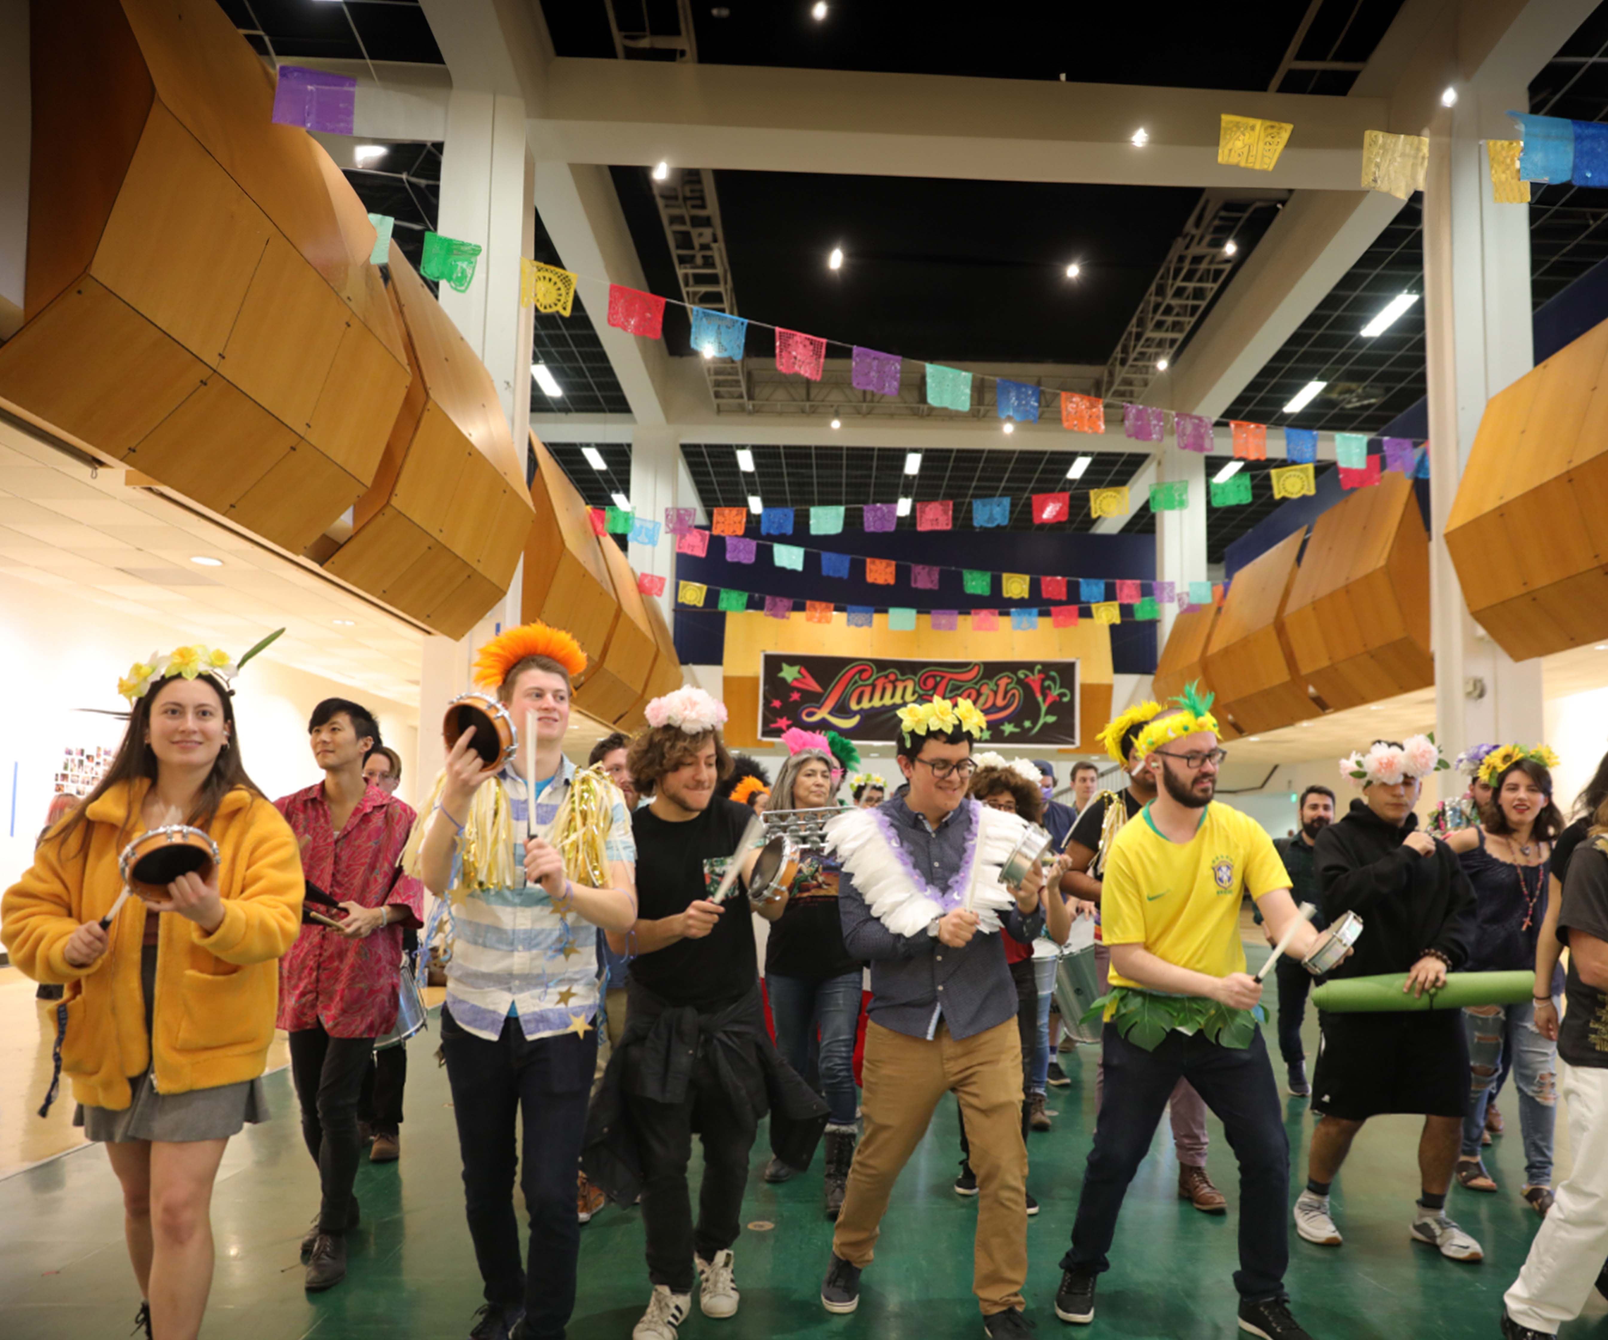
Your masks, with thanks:
<instances>
[{"instance_id":1,"label":"shiny green and beige floor beneath the marching people","mask_svg":"<svg viewBox=\"0 0 1608 1340\"><path fill-rule=\"evenodd\" d=\"M1274 1030L1267 1025L1272 1042ZM1307 1052L1315 1021L1307 1017ZM214 1198L217 1279L206 1335L230 1340L418 1337L461 1340L479 1305L479 1277L463 1223L458 1150L444 1071L434 1044L413 1044L402 1161L365 1163L359 1176L363 1224L352 1235L346 1284L312 1298L302 1292L297 1242L317 1206L315 1169L302 1149L289 1075L269 1078L275 1120L228 1149ZM1031 1190L1044 1210L1029 1223L1029 1314L1040 1332L1063 1334L1050 1309L1060 1279L1093 1112L1093 1054L1066 1057L1069 1089L1052 1091L1055 1129L1029 1144ZM1311 1116L1288 1104L1294 1176L1304 1178ZM1518 1200L1523 1158L1516 1100L1502 1102L1512 1134L1487 1150L1500 1195L1454 1190L1454 1216L1486 1248L1479 1266L1442 1261L1407 1242L1417 1190L1417 1123L1380 1120L1359 1137L1335 1192L1343 1248L1319 1248L1291 1232L1288 1277L1298 1317L1317 1340L1494 1337L1502 1292L1529 1247L1536 1218ZM1163 1124L1163 1132L1166 1124ZM1560 1131L1561 1136L1561 1131ZM1563 1141L1560 1139L1560 1145ZM876 1263L863 1277L860 1311L830 1317L818 1303L831 1226L820 1215L814 1174L781 1187L759 1181L762 1145L736 1245L743 1290L738 1319L706 1321L695 1311L685 1340L727 1337L843 1337L918 1340L982 1334L970 1292L974 1211L950 1190L955 1112L946 1102L910 1161L884 1221ZM1566 1168L1566 1155L1560 1160ZM1100 1284L1093 1327L1068 1334L1172 1340L1230 1337L1235 1330L1233 1158L1212 1120L1211 1171L1229 1195L1227 1216L1204 1216L1175 1195L1171 1142L1156 1150L1127 1197ZM695 1171L696 1176L696 1171ZM646 1298L642 1223L635 1210L606 1208L582 1229L580 1295L574 1340L626 1340ZM88 1340L124 1337L138 1303L122 1245L117 1184L105 1155L90 1149L0 1182L0 1337ZM1595 1298L1568 1337L1608 1337Z\"/></svg>"}]
</instances>

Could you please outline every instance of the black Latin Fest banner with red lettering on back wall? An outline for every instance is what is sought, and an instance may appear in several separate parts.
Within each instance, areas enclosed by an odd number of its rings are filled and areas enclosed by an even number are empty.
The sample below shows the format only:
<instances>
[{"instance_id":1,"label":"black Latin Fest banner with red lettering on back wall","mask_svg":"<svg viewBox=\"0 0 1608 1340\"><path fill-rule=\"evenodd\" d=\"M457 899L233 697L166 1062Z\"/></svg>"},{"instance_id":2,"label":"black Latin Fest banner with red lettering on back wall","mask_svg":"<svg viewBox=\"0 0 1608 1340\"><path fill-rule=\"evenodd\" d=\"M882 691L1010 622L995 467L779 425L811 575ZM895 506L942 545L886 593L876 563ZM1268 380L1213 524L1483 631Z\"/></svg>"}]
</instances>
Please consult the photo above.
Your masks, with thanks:
<instances>
[{"instance_id":1,"label":"black Latin Fest banner with red lettering on back wall","mask_svg":"<svg viewBox=\"0 0 1608 1340\"><path fill-rule=\"evenodd\" d=\"M921 661L881 656L761 656L759 735L790 725L891 745L896 713L931 697L970 698L995 745L1079 745L1077 661Z\"/></svg>"}]
</instances>

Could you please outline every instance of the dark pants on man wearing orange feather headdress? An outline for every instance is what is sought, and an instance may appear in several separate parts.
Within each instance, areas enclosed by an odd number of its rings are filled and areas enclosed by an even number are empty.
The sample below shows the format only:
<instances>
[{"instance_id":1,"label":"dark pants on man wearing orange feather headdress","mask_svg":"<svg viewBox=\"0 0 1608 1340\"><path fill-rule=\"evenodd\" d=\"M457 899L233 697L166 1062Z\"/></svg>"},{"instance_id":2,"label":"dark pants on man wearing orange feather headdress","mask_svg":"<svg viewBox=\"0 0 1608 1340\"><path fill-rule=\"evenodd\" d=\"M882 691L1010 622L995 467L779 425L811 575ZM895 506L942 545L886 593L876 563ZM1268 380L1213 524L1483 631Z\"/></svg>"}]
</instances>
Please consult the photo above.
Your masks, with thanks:
<instances>
[{"instance_id":1,"label":"dark pants on man wearing orange feather headdress","mask_svg":"<svg viewBox=\"0 0 1608 1340\"><path fill-rule=\"evenodd\" d=\"M510 1321L524 1309L531 1340L561 1340L576 1309L580 1221L576 1179L597 1067L597 1031L526 1041L519 1020L495 1042L466 1033L441 1009L452 1112L463 1157L463 1198L486 1301ZM516 1124L524 1129L519 1190L531 1216L529 1266L513 1213Z\"/></svg>"}]
</instances>

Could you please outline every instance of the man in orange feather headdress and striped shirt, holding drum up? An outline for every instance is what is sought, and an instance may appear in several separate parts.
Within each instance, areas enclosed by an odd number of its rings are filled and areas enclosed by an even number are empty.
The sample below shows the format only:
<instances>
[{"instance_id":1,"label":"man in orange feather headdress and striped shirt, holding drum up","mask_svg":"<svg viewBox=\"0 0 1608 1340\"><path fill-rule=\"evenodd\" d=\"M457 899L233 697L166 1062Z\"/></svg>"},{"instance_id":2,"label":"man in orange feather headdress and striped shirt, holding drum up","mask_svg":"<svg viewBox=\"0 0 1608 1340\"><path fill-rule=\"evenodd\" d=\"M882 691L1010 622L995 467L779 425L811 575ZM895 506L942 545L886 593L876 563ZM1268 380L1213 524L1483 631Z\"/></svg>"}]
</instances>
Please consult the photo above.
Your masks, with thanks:
<instances>
[{"instance_id":1,"label":"man in orange feather headdress and striped shirt, holding drum up","mask_svg":"<svg viewBox=\"0 0 1608 1340\"><path fill-rule=\"evenodd\" d=\"M571 687L585 668L580 643L542 623L481 648L476 684L495 693L518 746L484 742L497 759L487 767L474 729L463 730L404 857L450 898L441 1042L486 1285L473 1340L563 1335L576 1306L576 1174L601 989L590 927L622 933L637 917L626 801L601 771L564 758ZM527 1263L513 1208L519 1121Z\"/></svg>"}]
</instances>

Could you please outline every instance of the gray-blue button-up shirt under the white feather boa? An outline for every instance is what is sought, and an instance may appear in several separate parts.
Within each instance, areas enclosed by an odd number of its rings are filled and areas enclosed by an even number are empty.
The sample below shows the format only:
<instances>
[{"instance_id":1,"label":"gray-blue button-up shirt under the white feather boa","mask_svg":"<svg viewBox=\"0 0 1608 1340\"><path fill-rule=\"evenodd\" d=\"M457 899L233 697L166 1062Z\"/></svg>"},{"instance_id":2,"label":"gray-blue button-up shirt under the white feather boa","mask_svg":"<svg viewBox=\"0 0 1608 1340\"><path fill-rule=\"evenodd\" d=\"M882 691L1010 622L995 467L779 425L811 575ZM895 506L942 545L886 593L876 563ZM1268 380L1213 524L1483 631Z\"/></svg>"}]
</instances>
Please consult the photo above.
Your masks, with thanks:
<instances>
[{"instance_id":1,"label":"gray-blue button-up shirt under the white feather boa","mask_svg":"<svg viewBox=\"0 0 1608 1340\"><path fill-rule=\"evenodd\" d=\"M912 864L928 883L942 888L960 873L971 808L944 816L934 830L905 804L905 790L880 809L892 819ZM847 870L838 882L838 912L849 954L872 964L870 1017L883 1028L934 1038L942 1020L950 1036L971 1038L1016 1017L1016 983L1000 936L974 935L963 949L954 949L925 930L894 935L872 915ZM1028 944L1044 928L1044 910L1024 917L1011 907L1002 922L1008 935Z\"/></svg>"}]
</instances>

